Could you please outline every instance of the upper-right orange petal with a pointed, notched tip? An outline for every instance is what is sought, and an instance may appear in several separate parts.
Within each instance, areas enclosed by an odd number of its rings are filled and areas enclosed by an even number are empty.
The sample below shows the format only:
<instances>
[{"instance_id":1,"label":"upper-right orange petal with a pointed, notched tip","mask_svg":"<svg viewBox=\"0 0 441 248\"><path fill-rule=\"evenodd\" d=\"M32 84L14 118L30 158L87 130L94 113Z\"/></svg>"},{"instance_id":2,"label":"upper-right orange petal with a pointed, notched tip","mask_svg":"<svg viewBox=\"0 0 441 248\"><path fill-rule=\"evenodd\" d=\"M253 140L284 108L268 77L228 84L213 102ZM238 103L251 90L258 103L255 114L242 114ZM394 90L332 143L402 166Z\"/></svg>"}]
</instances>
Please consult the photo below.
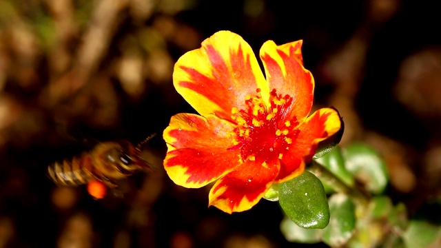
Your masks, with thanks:
<instances>
[{"instance_id":1,"label":"upper-right orange petal with a pointed, notched tip","mask_svg":"<svg viewBox=\"0 0 441 248\"><path fill-rule=\"evenodd\" d=\"M276 89L278 94L288 94L293 98L289 114L283 121L296 117L301 123L311 111L314 99L314 78L303 67L302 41L294 41L277 46L274 41L267 41L260 48L269 90Z\"/></svg>"}]
</instances>

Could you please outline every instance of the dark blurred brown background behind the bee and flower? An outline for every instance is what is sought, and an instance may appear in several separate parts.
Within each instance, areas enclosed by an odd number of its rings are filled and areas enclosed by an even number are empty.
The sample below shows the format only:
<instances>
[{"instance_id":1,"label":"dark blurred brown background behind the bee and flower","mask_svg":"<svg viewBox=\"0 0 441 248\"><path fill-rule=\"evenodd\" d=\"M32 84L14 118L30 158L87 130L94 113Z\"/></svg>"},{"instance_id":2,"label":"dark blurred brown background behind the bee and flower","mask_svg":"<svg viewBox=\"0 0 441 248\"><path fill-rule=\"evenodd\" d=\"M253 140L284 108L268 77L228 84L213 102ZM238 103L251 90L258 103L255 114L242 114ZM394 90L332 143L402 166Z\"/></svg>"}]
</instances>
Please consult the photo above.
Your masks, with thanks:
<instances>
[{"instance_id":1,"label":"dark blurred brown background behind the bee and flower","mask_svg":"<svg viewBox=\"0 0 441 248\"><path fill-rule=\"evenodd\" d=\"M256 53L298 39L315 107L387 161L412 214L441 194L441 16L433 1L0 0L0 247L325 247L287 242L277 203L207 208L209 187L165 174L162 132L194 112L172 85L179 56L218 30ZM94 200L48 165L100 141L136 144L154 167Z\"/></svg>"}]
</instances>

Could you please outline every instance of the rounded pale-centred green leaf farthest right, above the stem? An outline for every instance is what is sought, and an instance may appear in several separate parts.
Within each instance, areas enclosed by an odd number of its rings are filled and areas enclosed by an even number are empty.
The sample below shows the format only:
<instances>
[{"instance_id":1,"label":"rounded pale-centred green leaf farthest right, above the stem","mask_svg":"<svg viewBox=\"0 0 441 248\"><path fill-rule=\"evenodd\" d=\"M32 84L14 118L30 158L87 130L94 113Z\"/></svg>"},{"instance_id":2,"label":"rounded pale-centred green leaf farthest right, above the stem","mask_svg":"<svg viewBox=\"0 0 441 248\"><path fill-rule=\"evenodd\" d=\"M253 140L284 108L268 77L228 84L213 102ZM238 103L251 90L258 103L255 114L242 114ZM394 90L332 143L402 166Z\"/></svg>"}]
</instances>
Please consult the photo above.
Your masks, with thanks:
<instances>
[{"instance_id":1,"label":"rounded pale-centred green leaf farthest right, above the stem","mask_svg":"<svg viewBox=\"0 0 441 248\"><path fill-rule=\"evenodd\" d=\"M362 143L354 143L342 149L347 170L365 184L369 192L380 194L387 186L389 176L380 154Z\"/></svg>"}]
</instances>

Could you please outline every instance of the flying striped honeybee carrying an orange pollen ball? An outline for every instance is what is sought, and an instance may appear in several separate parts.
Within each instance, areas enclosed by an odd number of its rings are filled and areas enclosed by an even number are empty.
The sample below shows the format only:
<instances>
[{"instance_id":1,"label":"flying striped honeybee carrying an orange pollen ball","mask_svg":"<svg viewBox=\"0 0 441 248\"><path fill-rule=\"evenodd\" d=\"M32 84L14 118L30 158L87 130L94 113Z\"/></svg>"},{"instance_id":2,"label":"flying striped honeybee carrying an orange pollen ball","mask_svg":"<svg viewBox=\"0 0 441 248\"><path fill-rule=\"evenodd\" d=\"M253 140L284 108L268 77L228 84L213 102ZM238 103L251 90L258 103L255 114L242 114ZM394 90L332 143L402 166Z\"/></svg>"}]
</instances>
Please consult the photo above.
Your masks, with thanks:
<instances>
[{"instance_id":1,"label":"flying striped honeybee carrying an orange pollen ball","mask_svg":"<svg viewBox=\"0 0 441 248\"><path fill-rule=\"evenodd\" d=\"M52 163L48 166L48 177L59 186L99 181L107 187L117 187L118 180L143 169L151 169L151 165L140 155L143 143L153 136L147 137L137 146L129 141L99 143L90 152Z\"/></svg>"}]
</instances>

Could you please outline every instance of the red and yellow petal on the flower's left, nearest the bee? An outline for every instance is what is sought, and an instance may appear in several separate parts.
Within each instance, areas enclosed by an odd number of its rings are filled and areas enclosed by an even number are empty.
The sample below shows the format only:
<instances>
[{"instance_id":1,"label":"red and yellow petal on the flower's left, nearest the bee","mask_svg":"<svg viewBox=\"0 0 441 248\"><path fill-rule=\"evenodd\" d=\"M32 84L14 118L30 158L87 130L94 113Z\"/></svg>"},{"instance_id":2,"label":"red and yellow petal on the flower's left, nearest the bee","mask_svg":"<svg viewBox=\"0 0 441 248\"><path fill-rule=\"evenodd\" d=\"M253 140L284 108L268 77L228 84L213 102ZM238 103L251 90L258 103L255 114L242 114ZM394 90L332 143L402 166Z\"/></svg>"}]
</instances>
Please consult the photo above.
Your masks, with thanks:
<instances>
[{"instance_id":1,"label":"red and yellow petal on the flower's left, nearest the bee","mask_svg":"<svg viewBox=\"0 0 441 248\"><path fill-rule=\"evenodd\" d=\"M168 152L164 167L168 176L184 187L203 187L239 165L228 121L208 115L176 114L164 130Z\"/></svg>"}]
</instances>

